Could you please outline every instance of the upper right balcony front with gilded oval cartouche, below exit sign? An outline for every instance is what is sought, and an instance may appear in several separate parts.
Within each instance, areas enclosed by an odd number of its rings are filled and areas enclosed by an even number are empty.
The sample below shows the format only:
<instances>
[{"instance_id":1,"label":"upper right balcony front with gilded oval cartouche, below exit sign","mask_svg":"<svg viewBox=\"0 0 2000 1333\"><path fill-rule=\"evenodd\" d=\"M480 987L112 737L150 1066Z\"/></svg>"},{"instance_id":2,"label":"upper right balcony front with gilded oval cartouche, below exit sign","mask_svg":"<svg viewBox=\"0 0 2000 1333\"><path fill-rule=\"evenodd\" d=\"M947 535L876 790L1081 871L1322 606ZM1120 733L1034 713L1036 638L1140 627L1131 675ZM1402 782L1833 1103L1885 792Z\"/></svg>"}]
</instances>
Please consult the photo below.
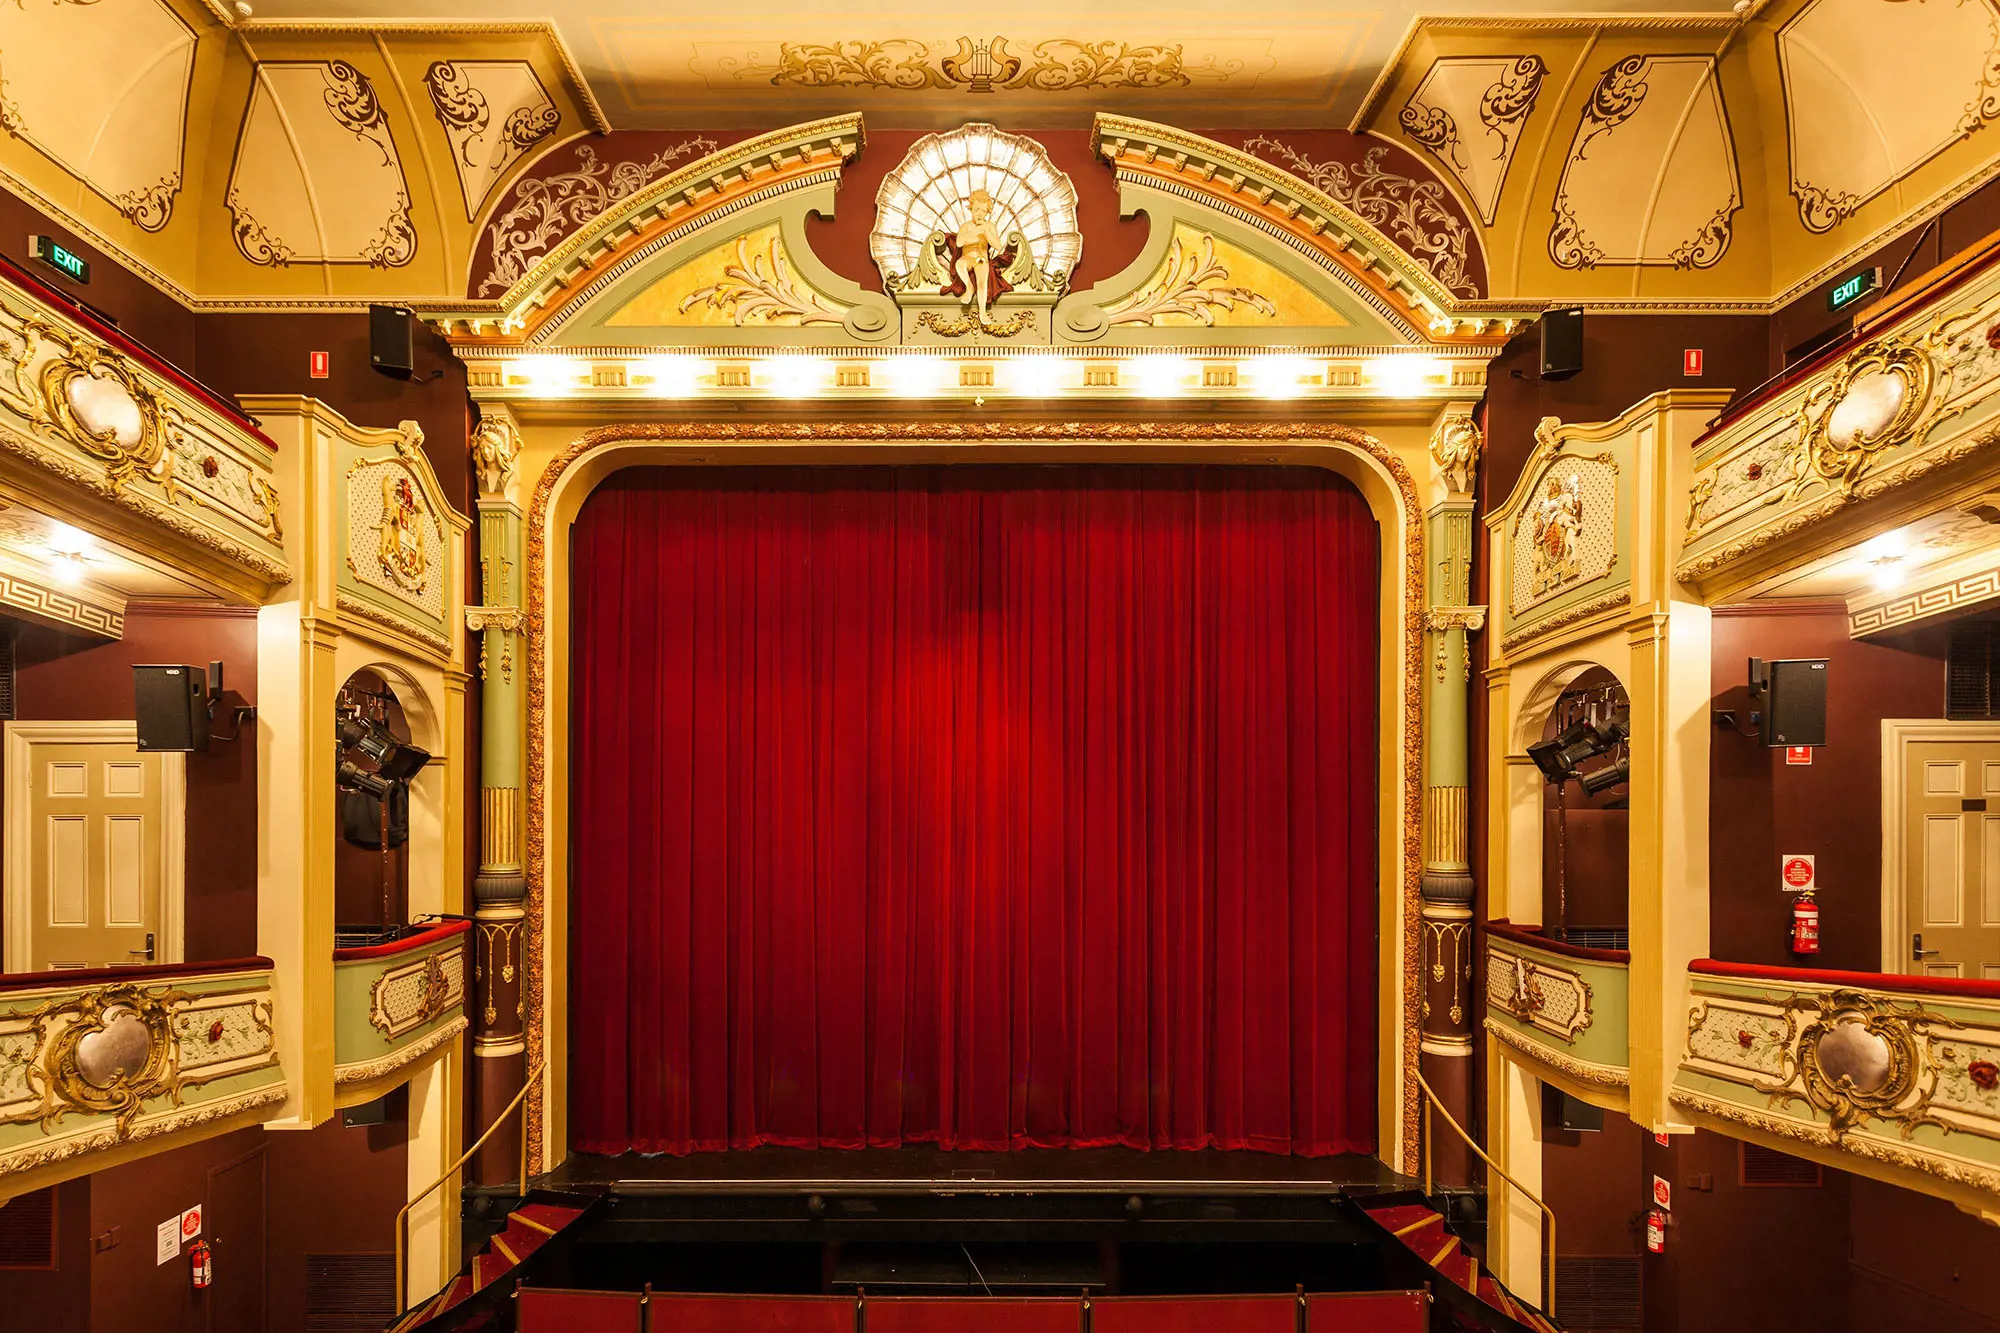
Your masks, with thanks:
<instances>
[{"instance_id":1,"label":"upper right balcony front with gilded oval cartouche, below exit sign","mask_svg":"<svg viewBox=\"0 0 2000 1333\"><path fill-rule=\"evenodd\" d=\"M1878 586L1888 564L1902 592L1964 582L1956 566L1968 558L1990 566L1996 258L1990 248L1882 308L1860 338L1750 394L1702 436L1678 578L1708 602L1850 594L1850 610L1868 612L1856 632L1870 632L1918 618L1874 604L1894 600ZM1932 600L1962 610L1968 598Z\"/></svg>"}]
</instances>

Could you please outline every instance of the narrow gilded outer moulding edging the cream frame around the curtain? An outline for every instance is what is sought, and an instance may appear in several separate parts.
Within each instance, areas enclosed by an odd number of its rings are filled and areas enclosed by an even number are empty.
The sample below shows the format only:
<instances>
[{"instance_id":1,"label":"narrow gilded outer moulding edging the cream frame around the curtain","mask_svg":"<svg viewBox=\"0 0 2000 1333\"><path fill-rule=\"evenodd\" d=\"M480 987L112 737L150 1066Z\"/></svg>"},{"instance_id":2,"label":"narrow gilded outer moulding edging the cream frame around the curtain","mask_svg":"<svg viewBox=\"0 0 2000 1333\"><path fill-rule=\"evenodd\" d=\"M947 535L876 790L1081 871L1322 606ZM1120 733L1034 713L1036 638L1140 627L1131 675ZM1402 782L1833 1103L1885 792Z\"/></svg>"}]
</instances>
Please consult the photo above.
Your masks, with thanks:
<instances>
[{"instance_id":1,"label":"narrow gilded outer moulding edging the cream frame around the curtain","mask_svg":"<svg viewBox=\"0 0 2000 1333\"><path fill-rule=\"evenodd\" d=\"M1424 707L1422 707L1422 652L1424 652L1424 524L1418 500L1416 478L1408 466L1388 446L1364 430L1320 422L652 422L630 426L606 426L572 440L542 470L534 498L528 508L528 717L526 717L526 791L546 793L548 783L548 691L550 687L550 624L546 604L548 584L548 526L552 498L564 474L584 456L606 446L628 440L684 442L714 446L716 442L750 444L938 444L946 448L964 444L1024 444L1024 446L1068 446L1078 440L1104 444L1184 446L1188 442L1332 442L1372 460L1390 482L1404 514L1408 544L1402 554L1402 652L1396 671L1396 693L1384 699L1382 717L1394 719L1400 711L1400 775L1402 805L1398 825L1402 845L1396 849L1402 939L1396 941L1402 1013L1400 1023L1400 1071L1396 1089L1400 1125L1384 1133L1400 1135L1404 1161L1416 1161L1418 1153L1418 1047L1422 1039L1422 969L1420 969L1420 873L1422 873L1422 805L1424 805ZM1384 564L1394 558L1382 552ZM1394 727L1394 721L1388 723ZM1394 799L1388 797L1386 799ZM524 1037L526 1065L532 1069L546 1053L548 993L542 963L546 957L544 913L548 911L548 807L544 801L528 803L528 903L526 903L526 995L524 995ZM516 1085L518 1087L518 1085ZM546 1153L548 1107L544 1085L528 1093L528 1159L530 1171L550 1161Z\"/></svg>"}]
</instances>

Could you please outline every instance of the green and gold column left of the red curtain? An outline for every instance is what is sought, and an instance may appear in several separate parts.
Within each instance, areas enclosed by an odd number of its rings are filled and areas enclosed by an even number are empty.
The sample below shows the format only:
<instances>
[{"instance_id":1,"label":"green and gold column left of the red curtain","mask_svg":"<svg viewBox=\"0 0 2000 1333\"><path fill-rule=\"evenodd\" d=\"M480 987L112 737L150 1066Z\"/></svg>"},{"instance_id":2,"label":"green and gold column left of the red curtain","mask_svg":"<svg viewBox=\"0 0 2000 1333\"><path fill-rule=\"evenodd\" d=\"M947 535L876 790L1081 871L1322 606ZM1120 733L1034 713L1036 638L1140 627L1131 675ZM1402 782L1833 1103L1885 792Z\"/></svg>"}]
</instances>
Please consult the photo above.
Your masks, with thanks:
<instances>
[{"instance_id":1,"label":"green and gold column left of the red curtain","mask_svg":"<svg viewBox=\"0 0 2000 1333\"><path fill-rule=\"evenodd\" d=\"M528 879L522 873L522 518L516 502L520 432L506 408L488 406L472 432L480 480L480 604L466 628L480 634L480 871L472 881L472 1137L486 1133L526 1079L522 979ZM478 1185L514 1179L520 1119L480 1149Z\"/></svg>"}]
</instances>

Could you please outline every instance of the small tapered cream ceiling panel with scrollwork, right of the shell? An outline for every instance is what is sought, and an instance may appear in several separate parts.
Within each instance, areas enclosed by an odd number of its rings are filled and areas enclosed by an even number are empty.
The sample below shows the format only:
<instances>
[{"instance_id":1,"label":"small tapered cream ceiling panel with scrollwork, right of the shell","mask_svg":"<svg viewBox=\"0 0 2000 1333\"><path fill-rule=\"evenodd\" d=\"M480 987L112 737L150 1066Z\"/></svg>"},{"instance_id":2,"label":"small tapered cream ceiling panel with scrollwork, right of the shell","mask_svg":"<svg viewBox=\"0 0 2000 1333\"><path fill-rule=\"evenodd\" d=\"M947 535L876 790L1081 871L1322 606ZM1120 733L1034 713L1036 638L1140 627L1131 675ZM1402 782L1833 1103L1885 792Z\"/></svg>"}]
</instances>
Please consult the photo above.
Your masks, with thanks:
<instances>
[{"instance_id":1,"label":"small tapered cream ceiling panel with scrollwork, right of the shell","mask_svg":"<svg viewBox=\"0 0 2000 1333\"><path fill-rule=\"evenodd\" d=\"M1438 60L1398 116L1402 132L1458 178L1486 226L1544 74L1540 56Z\"/></svg>"}]
</instances>

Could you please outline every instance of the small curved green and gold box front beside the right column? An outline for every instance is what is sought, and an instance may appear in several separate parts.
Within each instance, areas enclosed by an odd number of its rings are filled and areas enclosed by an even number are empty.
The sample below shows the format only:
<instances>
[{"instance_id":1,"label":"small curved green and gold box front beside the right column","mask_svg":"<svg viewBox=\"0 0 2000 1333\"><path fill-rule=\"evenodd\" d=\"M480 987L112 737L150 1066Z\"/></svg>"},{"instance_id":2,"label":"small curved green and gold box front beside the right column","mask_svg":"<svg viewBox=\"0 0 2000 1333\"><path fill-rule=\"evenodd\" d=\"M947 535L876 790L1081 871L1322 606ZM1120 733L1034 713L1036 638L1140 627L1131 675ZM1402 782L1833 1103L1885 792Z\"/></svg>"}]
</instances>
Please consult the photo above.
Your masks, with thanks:
<instances>
[{"instance_id":1,"label":"small curved green and gold box front beside the right column","mask_svg":"<svg viewBox=\"0 0 2000 1333\"><path fill-rule=\"evenodd\" d=\"M1536 1075L1594 1103L1630 1085L1630 955L1584 949L1506 921L1486 923L1486 1031Z\"/></svg>"}]
</instances>

